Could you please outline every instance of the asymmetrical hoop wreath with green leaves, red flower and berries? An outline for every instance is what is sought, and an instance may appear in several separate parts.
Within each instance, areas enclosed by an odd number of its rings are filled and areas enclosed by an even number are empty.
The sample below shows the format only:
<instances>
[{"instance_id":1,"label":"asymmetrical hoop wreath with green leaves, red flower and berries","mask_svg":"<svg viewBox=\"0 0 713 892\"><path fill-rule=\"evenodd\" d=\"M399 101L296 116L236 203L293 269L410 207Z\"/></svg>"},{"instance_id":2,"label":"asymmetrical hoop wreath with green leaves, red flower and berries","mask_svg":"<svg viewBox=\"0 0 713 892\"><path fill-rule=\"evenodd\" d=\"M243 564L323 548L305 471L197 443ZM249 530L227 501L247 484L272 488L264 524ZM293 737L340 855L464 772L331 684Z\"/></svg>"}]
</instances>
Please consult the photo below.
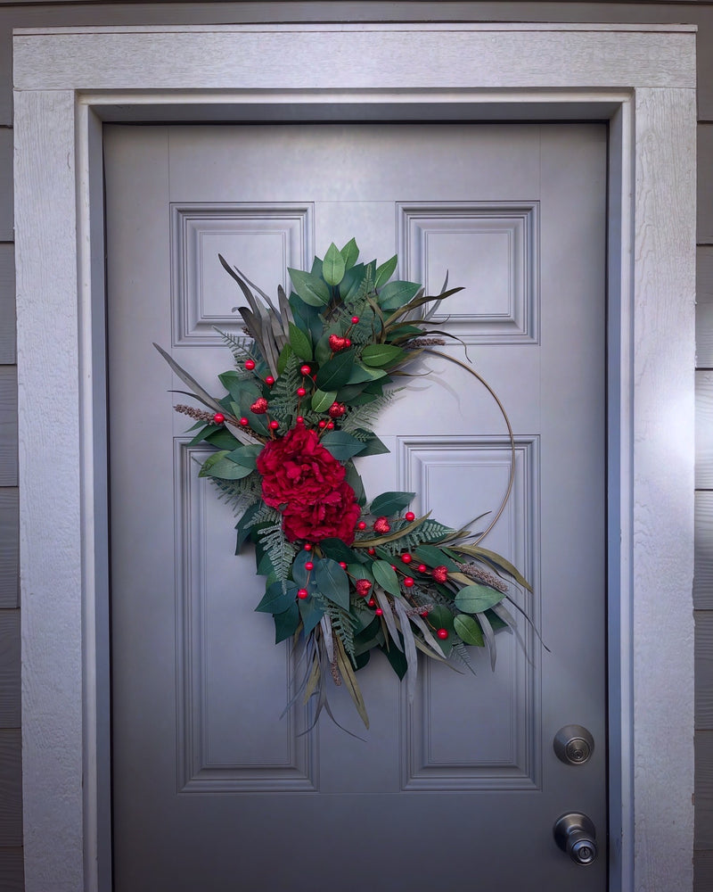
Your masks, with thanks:
<instances>
[{"instance_id":1,"label":"asymmetrical hoop wreath with green leaves, red flower and berries","mask_svg":"<svg viewBox=\"0 0 713 892\"><path fill-rule=\"evenodd\" d=\"M351 239L331 244L310 271L290 269L292 292L273 301L222 256L247 307L243 335L220 332L234 368L219 375L225 395L213 397L157 350L190 388L201 409L178 412L196 424L190 445L213 451L200 475L214 483L238 517L237 549L255 548L265 595L255 608L272 614L275 643L292 639L304 671L291 703L315 698L313 725L324 709L333 719L330 684L348 689L369 727L356 672L381 650L414 695L418 651L473 671L466 646L487 647L496 665L496 632L517 633L509 584L529 590L515 566L479 544L495 524L472 534L409 506L414 492L382 492L368 500L355 459L389 450L373 419L393 400L394 377L426 353L468 369L434 348L446 343L432 316L438 303L422 285L394 280L397 257L358 261ZM457 340L457 339L456 339ZM179 391L183 392L184 391ZM485 516L485 515L483 515ZM479 518L476 518L476 521ZM475 522L475 521L474 521Z\"/></svg>"}]
</instances>

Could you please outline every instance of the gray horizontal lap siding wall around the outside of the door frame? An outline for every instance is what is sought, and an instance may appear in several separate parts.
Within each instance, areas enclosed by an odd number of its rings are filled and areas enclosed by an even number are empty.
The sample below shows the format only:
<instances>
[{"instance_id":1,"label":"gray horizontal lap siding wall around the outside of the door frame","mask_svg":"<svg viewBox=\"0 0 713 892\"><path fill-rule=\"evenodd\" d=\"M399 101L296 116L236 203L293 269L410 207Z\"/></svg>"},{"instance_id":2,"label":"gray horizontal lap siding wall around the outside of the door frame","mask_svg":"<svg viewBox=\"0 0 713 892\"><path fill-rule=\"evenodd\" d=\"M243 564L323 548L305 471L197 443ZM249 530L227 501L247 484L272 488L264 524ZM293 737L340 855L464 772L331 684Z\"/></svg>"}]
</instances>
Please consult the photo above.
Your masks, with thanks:
<instances>
[{"instance_id":1,"label":"gray horizontal lap siding wall around the outside of the door frame","mask_svg":"<svg viewBox=\"0 0 713 892\"><path fill-rule=\"evenodd\" d=\"M698 360L695 888L713 888L713 4L225 2L4 3L0 0L0 888L24 888L20 783L20 603L14 276L12 28L241 21L604 21L698 25ZM52 320L47 320L48 326ZM38 419L41 423L41 419ZM31 448L31 444L22 444ZM58 593L61 596L61 592Z\"/></svg>"}]
</instances>

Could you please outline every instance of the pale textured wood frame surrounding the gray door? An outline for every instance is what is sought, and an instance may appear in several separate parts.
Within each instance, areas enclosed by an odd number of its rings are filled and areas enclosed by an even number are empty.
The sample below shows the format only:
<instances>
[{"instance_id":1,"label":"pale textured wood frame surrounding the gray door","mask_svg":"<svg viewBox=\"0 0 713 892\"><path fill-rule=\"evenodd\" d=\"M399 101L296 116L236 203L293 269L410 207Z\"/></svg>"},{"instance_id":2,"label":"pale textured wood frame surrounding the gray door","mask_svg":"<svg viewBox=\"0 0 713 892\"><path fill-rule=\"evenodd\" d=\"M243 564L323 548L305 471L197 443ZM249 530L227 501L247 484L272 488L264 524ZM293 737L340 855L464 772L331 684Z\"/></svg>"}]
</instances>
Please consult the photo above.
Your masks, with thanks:
<instances>
[{"instance_id":1,"label":"pale textured wood frame surrounding the gray door","mask_svg":"<svg viewBox=\"0 0 713 892\"><path fill-rule=\"evenodd\" d=\"M695 29L19 29L14 77L27 892L111 887L102 121L395 117L609 122L610 888L692 889Z\"/></svg>"}]
</instances>

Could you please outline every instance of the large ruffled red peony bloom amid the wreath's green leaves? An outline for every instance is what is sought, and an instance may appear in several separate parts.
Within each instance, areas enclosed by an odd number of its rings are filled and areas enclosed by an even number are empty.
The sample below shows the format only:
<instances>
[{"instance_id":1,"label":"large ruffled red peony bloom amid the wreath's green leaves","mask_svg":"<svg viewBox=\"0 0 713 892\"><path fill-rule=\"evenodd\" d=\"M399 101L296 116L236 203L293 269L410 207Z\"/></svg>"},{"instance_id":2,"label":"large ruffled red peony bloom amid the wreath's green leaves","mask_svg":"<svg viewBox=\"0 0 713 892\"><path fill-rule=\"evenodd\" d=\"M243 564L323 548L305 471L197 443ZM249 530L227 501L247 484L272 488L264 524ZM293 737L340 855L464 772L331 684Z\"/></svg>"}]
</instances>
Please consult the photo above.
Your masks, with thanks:
<instances>
[{"instance_id":1,"label":"large ruffled red peony bloom amid the wreath's green leaves","mask_svg":"<svg viewBox=\"0 0 713 892\"><path fill-rule=\"evenodd\" d=\"M344 466L303 425L271 440L258 455L262 497L283 513L290 541L337 538L348 545L360 515Z\"/></svg>"}]
</instances>

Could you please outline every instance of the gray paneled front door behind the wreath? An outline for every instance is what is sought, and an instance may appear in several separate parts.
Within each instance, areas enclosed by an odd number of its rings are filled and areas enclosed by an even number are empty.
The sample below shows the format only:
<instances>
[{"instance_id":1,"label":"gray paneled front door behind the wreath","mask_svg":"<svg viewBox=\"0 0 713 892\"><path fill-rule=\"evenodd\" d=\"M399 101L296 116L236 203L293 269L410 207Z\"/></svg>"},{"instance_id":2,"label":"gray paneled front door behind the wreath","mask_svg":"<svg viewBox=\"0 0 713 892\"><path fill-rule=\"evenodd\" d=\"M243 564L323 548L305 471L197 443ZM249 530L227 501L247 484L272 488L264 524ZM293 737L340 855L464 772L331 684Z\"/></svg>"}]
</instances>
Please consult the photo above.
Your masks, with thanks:
<instances>
[{"instance_id":1,"label":"gray paneled front door behind the wreath","mask_svg":"<svg viewBox=\"0 0 713 892\"><path fill-rule=\"evenodd\" d=\"M604 236L596 125L106 128L115 879L140 890L606 888ZM496 672L422 665L413 705L386 660L316 731L280 718L295 666L254 612L264 581L198 478L152 342L212 392L240 303L222 253L265 290L330 242L398 252L400 277L464 285L449 330L504 402L512 498L484 544L534 585L527 648ZM463 348L448 347L463 358ZM449 525L494 511L509 442L484 389L443 359L379 417L367 493L413 489ZM379 655L381 656L381 655ZM586 764L553 738L594 735ZM589 815L583 868L553 842Z\"/></svg>"}]
</instances>

